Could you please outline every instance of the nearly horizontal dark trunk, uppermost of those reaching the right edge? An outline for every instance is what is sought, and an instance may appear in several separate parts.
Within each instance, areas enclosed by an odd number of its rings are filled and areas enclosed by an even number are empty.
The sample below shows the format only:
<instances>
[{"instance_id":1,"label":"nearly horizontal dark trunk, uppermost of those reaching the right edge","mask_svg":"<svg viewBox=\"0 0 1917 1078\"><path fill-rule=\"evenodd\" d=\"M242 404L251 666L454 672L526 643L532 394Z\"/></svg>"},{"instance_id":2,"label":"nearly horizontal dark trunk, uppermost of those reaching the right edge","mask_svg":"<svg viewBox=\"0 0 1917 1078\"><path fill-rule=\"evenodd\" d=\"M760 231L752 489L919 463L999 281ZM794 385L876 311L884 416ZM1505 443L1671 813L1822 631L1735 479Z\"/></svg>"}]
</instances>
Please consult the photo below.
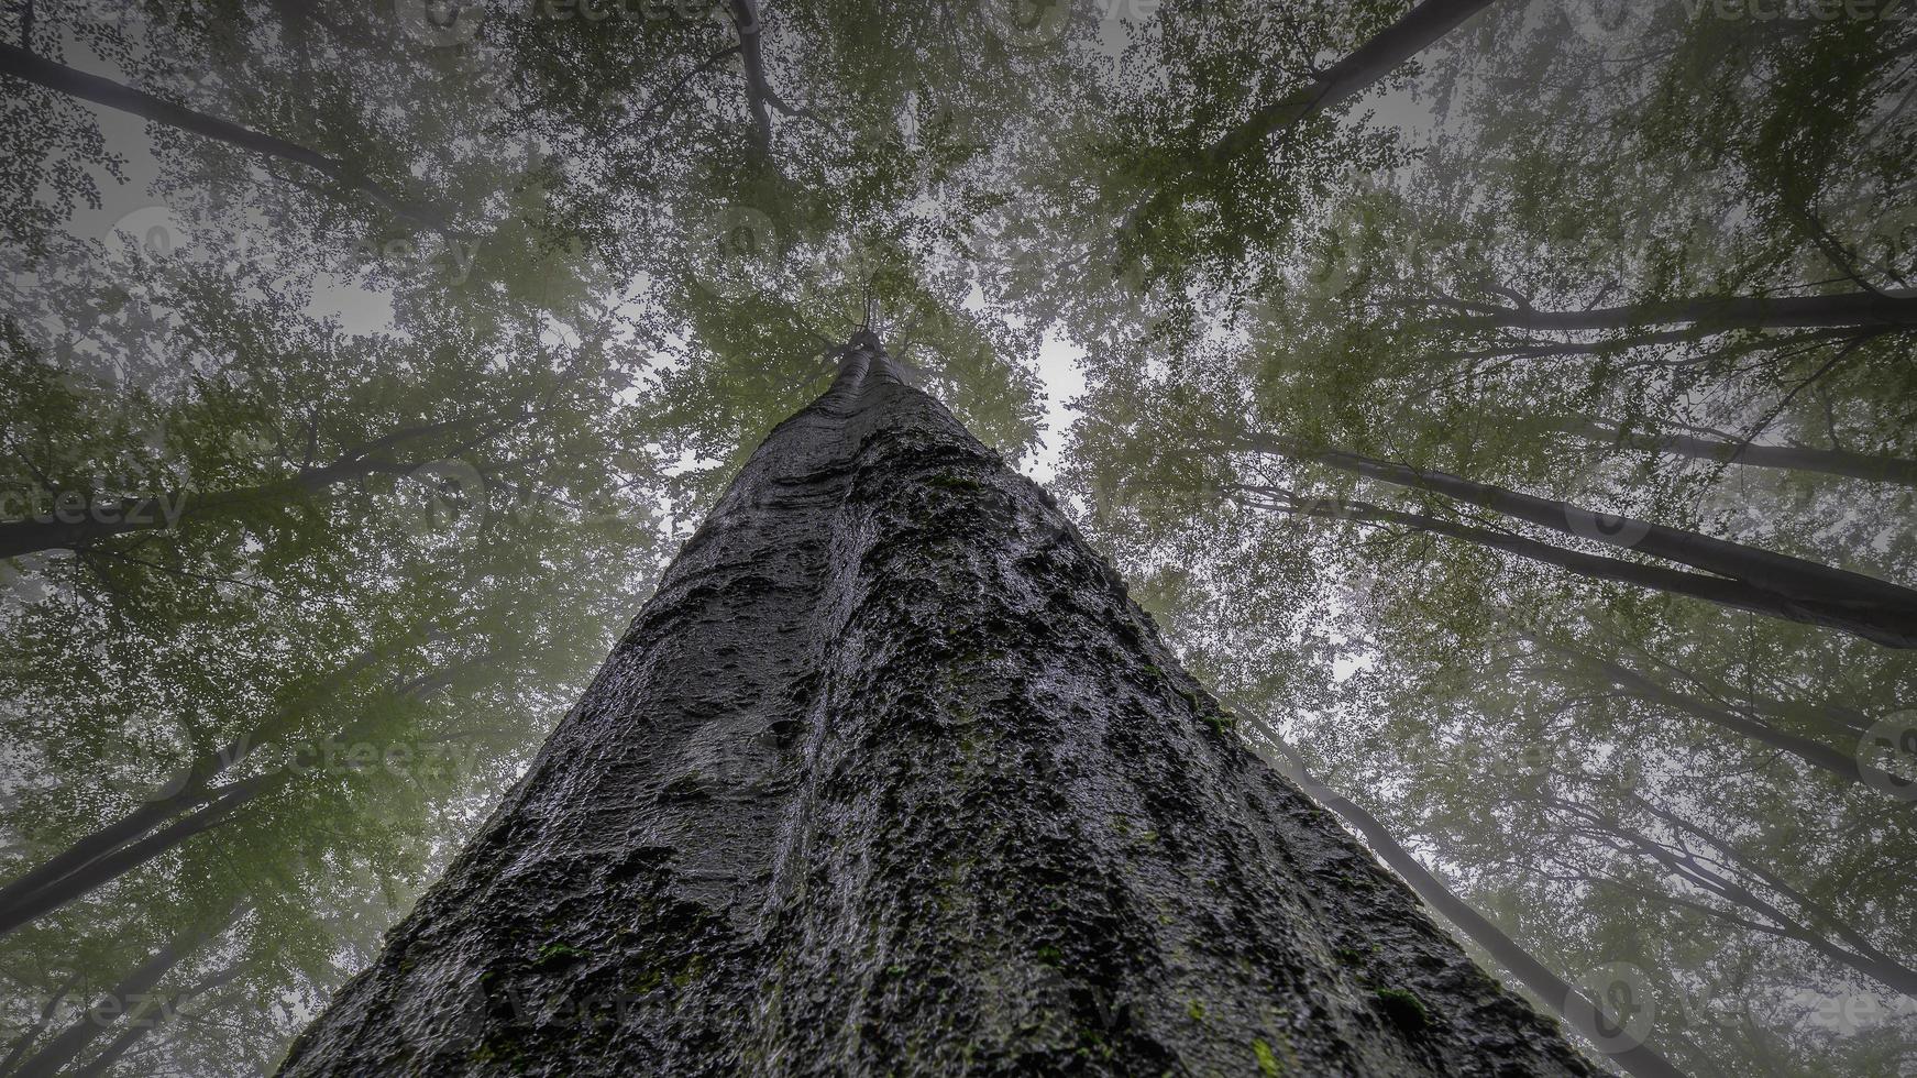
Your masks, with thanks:
<instances>
[{"instance_id":1,"label":"nearly horizontal dark trunk, uppermost of those reaching the right edge","mask_svg":"<svg viewBox=\"0 0 1917 1078\"><path fill-rule=\"evenodd\" d=\"M1829 295L1695 295L1631 307L1589 311L1537 311L1467 303L1472 313L1447 318L1465 330L1633 330L1643 326L1698 326L1725 330L1819 330L1917 326L1917 295L1838 292Z\"/></svg>"}]
</instances>

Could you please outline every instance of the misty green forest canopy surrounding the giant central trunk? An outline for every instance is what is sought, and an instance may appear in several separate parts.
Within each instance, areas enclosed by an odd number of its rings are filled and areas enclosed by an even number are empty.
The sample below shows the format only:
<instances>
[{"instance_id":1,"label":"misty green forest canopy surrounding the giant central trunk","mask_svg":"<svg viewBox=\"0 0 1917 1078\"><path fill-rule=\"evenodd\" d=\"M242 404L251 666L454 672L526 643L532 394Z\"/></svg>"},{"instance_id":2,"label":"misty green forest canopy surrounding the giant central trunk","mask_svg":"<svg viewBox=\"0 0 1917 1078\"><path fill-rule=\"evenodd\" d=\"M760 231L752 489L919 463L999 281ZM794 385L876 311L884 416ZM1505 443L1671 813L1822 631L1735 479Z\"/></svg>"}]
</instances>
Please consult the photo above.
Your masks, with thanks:
<instances>
[{"instance_id":1,"label":"misty green forest canopy surrounding the giant central trunk","mask_svg":"<svg viewBox=\"0 0 1917 1078\"><path fill-rule=\"evenodd\" d=\"M859 328L1597 1059L1907 1072L1905 15L8 2L0 1074L270 1072Z\"/></svg>"}]
</instances>

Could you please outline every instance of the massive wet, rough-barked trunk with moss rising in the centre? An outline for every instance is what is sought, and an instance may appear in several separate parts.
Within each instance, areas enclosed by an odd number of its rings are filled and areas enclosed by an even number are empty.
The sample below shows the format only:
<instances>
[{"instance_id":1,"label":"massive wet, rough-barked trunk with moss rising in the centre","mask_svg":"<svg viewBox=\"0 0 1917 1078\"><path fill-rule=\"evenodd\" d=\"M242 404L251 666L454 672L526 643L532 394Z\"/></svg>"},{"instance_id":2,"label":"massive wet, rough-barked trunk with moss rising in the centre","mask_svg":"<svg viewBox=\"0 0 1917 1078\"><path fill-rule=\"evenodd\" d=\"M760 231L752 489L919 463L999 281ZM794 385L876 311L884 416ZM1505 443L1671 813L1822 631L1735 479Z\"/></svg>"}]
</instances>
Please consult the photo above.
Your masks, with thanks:
<instances>
[{"instance_id":1,"label":"massive wet, rough-barked trunk with moss rising in the centre","mask_svg":"<svg viewBox=\"0 0 1917 1078\"><path fill-rule=\"evenodd\" d=\"M282 1074L1591 1074L865 336Z\"/></svg>"}]
</instances>

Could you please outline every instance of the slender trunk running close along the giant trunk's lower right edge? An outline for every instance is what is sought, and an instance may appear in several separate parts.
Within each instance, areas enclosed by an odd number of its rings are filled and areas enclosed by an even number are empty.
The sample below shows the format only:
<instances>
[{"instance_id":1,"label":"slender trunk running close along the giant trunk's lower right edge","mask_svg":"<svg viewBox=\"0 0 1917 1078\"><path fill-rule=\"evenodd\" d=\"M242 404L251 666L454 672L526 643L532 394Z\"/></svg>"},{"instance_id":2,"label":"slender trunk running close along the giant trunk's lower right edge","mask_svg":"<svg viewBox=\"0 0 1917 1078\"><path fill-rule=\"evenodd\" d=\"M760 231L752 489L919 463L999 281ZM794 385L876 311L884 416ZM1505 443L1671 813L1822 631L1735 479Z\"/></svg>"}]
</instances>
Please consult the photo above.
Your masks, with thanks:
<instances>
[{"instance_id":1,"label":"slender trunk running close along the giant trunk's lower right edge","mask_svg":"<svg viewBox=\"0 0 1917 1078\"><path fill-rule=\"evenodd\" d=\"M1244 708L1238 710L1240 714L1244 712ZM1273 763L1286 779L1298 783L1317 804L1338 813L1351 831L1363 834L1371 850L1392 871L1403 877L1426 905L1436 909L1453 928L1470 936L1497 965L1518 978L1518 984L1530 988L1539 1003L1549 1007L1559 1019L1570 1022L1574 1030L1595 1043L1618 1068L1637 1078L1683 1078L1683 1070L1664 1059L1658 1049L1624 1036L1624 1030L1583 990L1532 957L1522 944L1507 936L1503 928L1459 898L1436 873L1405 850L1378 817L1311 777L1304 758L1277 735L1271 723L1259 719L1259 733L1277 750L1279 758Z\"/></svg>"}]
</instances>

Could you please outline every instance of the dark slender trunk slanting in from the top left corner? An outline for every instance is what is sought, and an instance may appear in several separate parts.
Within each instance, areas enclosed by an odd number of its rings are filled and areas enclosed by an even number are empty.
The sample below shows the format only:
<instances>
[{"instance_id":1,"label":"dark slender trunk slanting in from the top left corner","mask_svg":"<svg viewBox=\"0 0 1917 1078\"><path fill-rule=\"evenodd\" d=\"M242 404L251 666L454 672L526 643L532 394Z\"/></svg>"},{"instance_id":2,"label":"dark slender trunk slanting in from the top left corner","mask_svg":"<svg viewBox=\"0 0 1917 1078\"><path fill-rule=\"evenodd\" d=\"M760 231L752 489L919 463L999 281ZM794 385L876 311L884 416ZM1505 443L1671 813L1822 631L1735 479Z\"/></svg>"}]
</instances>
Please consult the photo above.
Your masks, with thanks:
<instances>
[{"instance_id":1,"label":"dark slender trunk slanting in from the top left corner","mask_svg":"<svg viewBox=\"0 0 1917 1078\"><path fill-rule=\"evenodd\" d=\"M381 184L370 180L355 165L341 161L337 157L328 157L318 150L309 150L297 142L288 142L284 138L274 138L259 130L240 127L238 123L224 121L219 117L209 117L194 109L165 102L148 94L146 90L134 90L111 79L102 79L98 75L88 75L84 71L75 71L52 59L35 56L25 48L13 44L0 44L0 75L12 75L27 82L36 82L48 90L67 94L69 98L79 98L82 102L92 102L96 105L105 105L115 111L130 113L140 119L176 127L180 130L190 130L205 138L215 138L228 146L247 150L251 153L261 153L265 157L278 157L282 161L295 161L307 165L326 178L360 192L376 205L383 207L387 213L410 221L422 228L439 230L445 228L435 213L422 207L406 203L397 194L389 192Z\"/></svg>"}]
</instances>

